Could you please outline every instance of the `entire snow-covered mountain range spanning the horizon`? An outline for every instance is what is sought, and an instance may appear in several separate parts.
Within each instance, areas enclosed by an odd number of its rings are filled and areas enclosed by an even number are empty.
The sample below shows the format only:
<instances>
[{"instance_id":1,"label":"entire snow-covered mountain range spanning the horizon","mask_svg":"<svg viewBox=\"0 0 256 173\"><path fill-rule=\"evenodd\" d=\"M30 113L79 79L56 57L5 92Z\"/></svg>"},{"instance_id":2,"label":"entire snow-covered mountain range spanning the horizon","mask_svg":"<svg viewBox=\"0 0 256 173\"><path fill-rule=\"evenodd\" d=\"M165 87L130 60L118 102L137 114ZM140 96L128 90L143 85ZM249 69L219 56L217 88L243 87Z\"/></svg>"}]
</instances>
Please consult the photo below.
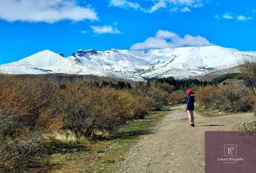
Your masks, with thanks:
<instances>
[{"instance_id":1,"label":"entire snow-covered mountain range spanning the horizon","mask_svg":"<svg viewBox=\"0 0 256 173\"><path fill-rule=\"evenodd\" d=\"M2 74L88 74L142 80L174 76L200 76L242 63L256 52L220 46L165 48L158 50L78 50L64 58L43 50L20 61L0 66Z\"/></svg>"}]
</instances>

